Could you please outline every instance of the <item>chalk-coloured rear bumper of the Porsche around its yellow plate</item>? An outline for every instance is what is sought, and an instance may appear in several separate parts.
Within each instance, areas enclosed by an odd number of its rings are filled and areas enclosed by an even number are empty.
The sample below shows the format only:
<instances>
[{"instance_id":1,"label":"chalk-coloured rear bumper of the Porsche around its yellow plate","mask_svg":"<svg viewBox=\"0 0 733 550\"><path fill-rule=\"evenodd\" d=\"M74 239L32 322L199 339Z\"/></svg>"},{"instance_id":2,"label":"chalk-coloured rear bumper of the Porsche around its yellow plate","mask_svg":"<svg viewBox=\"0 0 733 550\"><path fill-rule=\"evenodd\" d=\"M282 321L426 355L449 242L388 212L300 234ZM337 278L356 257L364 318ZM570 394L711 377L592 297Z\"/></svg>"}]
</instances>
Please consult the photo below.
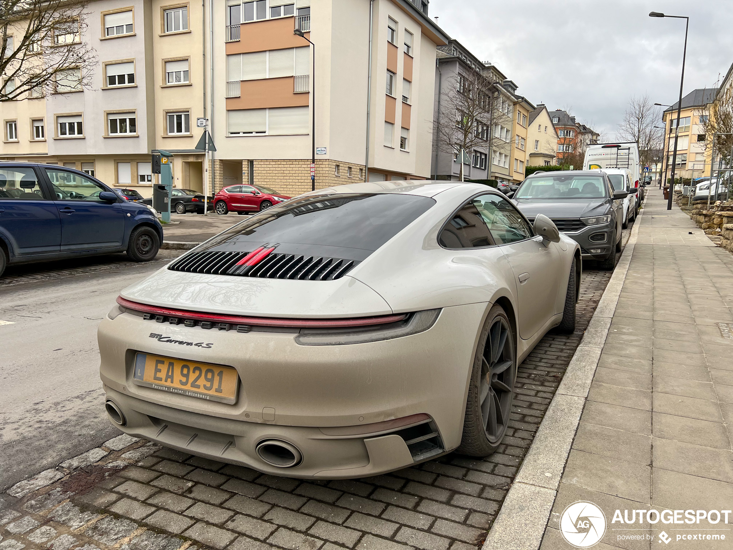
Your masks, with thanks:
<instances>
[{"instance_id":1,"label":"chalk-coloured rear bumper of the Porsche around its yellow plate","mask_svg":"<svg viewBox=\"0 0 733 550\"><path fill-rule=\"evenodd\" d=\"M290 477L351 478L390 472L460 444L476 337L487 304L444 308L435 325L408 337L304 346L295 334L166 326L123 313L99 328L100 375L122 409L126 433L191 454ZM211 348L165 345L151 331ZM136 351L226 364L240 375L233 405L133 384ZM404 427L367 425L426 414L436 448L408 444ZM115 424L117 425L117 424ZM424 426L423 428L427 428ZM358 433L361 430L361 433ZM303 460L271 466L265 439L287 441ZM437 443L436 443L437 442ZM426 454L427 453L427 454Z\"/></svg>"}]
</instances>

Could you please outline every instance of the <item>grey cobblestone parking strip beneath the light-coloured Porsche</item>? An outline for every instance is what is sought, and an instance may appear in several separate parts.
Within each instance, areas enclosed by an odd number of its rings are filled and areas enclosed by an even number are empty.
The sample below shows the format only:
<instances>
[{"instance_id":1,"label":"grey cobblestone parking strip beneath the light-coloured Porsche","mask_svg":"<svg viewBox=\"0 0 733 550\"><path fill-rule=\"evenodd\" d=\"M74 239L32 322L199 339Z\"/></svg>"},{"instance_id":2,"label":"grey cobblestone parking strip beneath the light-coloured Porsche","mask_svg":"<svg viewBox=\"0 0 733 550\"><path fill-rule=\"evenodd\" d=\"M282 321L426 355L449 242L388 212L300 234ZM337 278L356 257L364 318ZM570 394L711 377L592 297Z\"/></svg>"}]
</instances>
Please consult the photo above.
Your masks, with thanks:
<instances>
[{"instance_id":1,"label":"grey cobblestone parking strip beneath the light-coloured Porsche","mask_svg":"<svg viewBox=\"0 0 733 550\"><path fill-rule=\"evenodd\" d=\"M451 453L378 477L303 481L119 436L11 488L0 550L475 550L610 276L585 271L575 333L548 334L520 365L510 428L485 459Z\"/></svg>"}]
</instances>

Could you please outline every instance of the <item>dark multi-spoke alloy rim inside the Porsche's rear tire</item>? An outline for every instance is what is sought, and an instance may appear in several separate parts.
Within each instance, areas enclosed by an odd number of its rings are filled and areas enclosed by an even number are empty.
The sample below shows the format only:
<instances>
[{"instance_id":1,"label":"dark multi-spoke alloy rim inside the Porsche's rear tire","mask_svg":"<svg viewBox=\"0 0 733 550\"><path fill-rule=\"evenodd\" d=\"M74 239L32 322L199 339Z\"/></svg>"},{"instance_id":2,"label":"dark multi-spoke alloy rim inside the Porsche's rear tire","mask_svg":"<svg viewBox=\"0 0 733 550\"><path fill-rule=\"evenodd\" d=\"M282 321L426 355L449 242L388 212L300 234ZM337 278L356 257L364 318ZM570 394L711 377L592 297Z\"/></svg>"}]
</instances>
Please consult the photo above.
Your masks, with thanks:
<instances>
[{"instance_id":1,"label":"dark multi-spoke alloy rim inside the Porsche's rear tire","mask_svg":"<svg viewBox=\"0 0 733 550\"><path fill-rule=\"evenodd\" d=\"M507 431L515 380L514 345L509 340L509 326L497 318L486 340L481 367L482 425L491 444L498 444Z\"/></svg>"}]
</instances>

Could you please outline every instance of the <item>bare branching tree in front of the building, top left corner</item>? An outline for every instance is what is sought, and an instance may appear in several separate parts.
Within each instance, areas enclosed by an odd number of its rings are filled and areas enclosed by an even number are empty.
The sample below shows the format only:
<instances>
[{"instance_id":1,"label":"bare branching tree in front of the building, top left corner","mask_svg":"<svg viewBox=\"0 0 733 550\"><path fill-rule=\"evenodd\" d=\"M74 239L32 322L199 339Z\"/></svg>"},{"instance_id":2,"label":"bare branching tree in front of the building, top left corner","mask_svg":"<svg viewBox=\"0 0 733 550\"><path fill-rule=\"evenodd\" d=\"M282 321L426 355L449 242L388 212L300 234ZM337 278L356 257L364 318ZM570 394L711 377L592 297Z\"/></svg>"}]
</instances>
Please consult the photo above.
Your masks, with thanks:
<instances>
[{"instance_id":1,"label":"bare branching tree in front of the building, top left corner","mask_svg":"<svg viewBox=\"0 0 733 550\"><path fill-rule=\"evenodd\" d=\"M0 0L0 102L89 87L86 0Z\"/></svg>"}]
</instances>

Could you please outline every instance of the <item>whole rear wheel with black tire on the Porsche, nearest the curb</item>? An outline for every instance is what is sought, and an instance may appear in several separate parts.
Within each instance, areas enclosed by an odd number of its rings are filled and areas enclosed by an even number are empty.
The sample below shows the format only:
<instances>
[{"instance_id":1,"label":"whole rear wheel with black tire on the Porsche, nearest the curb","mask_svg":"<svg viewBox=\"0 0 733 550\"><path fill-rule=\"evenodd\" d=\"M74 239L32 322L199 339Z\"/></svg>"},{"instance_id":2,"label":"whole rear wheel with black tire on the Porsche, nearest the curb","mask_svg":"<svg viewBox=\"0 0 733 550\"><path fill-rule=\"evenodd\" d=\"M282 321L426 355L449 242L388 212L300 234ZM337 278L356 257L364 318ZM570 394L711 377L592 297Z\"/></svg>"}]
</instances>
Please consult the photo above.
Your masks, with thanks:
<instances>
[{"instance_id":1,"label":"whole rear wheel with black tire on the Porsche, nearest the curb","mask_svg":"<svg viewBox=\"0 0 733 550\"><path fill-rule=\"evenodd\" d=\"M509 426L517 378L516 340L506 312L497 304L486 319L468 386L463 437L456 450L469 456L487 456L498 449Z\"/></svg>"}]
</instances>

